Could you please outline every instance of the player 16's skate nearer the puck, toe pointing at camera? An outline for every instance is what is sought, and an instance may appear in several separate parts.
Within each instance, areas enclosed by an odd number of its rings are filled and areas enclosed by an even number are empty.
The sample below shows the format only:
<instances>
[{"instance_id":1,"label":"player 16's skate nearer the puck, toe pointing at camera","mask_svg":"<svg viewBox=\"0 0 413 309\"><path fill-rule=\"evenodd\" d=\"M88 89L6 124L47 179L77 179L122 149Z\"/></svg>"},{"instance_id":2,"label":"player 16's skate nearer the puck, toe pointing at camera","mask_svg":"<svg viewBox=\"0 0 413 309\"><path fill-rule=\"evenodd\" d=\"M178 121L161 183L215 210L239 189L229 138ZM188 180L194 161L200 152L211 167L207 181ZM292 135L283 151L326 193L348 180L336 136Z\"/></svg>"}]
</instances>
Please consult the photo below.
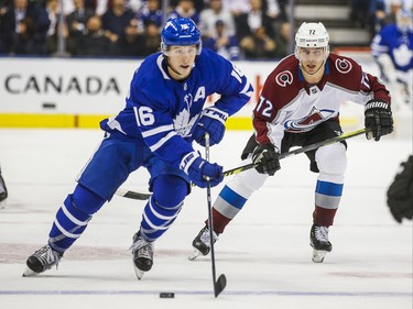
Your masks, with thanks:
<instances>
[{"instance_id":1,"label":"player 16's skate nearer the puck, toe pointing at camera","mask_svg":"<svg viewBox=\"0 0 413 309\"><path fill-rule=\"evenodd\" d=\"M153 265L153 243L146 242L141 233L133 235L133 244L129 249L133 254L133 268L138 279L142 279L145 272Z\"/></svg>"}]
</instances>

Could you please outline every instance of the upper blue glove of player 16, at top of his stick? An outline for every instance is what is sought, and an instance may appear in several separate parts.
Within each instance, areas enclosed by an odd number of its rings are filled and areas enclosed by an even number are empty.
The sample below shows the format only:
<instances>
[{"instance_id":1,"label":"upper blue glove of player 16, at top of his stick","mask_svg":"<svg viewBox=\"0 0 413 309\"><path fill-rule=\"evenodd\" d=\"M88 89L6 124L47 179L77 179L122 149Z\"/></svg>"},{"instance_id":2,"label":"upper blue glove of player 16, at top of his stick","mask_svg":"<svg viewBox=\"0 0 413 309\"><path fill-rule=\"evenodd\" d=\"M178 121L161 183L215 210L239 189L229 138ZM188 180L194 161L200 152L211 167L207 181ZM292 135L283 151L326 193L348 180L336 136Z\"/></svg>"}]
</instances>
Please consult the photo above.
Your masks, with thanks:
<instances>
[{"instance_id":1,"label":"upper blue glove of player 16, at top of his stick","mask_svg":"<svg viewBox=\"0 0 413 309\"><path fill-rule=\"evenodd\" d=\"M209 133L209 145L218 144L225 133L225 121L228 114L217 108L206 108L203 110L200 119L194 130L192 136L194 140L205 147L205 132Z\"/></svg>"}]
</instances>

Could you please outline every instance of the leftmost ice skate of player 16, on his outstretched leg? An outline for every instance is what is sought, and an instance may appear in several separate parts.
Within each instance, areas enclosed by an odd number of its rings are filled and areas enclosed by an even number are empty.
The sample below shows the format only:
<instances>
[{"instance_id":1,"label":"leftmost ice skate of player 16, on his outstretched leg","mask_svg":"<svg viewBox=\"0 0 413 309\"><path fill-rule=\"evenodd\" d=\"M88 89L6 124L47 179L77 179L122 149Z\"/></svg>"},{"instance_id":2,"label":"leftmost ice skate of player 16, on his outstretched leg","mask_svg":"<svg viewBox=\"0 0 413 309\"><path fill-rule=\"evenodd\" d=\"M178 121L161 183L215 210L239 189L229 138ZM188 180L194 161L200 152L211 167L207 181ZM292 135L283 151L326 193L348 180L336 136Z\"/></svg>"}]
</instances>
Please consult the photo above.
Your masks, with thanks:
<instances>
[{"instance_id":1,"label":"leftmost ice skate of player 16, on his outstretched leg","mask_svg":"<svg viewBox=\"0 0 413 309\"><path fill-rule=\"evenodd\" d=\"M48 244L42 246L40 250L29 256L25 264L28 268L23 273L23 277L31 277L39 275L47 269L51 269L54 265L58 265L58 262L63 257L63 254L53 250Z\"/></svg>"}]
</instances>

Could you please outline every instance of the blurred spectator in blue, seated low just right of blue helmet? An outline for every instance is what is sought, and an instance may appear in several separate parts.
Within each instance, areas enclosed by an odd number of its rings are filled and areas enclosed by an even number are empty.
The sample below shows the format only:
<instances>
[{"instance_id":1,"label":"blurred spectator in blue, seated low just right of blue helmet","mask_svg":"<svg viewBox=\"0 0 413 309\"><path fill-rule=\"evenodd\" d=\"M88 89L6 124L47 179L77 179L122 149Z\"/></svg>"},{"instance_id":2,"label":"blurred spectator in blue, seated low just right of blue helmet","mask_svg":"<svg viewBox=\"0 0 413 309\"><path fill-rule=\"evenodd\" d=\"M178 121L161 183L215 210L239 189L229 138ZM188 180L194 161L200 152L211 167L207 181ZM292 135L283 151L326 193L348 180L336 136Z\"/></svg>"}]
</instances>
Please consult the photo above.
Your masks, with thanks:
<instances>
[{"instance_id":1,"label":"blurred spectator in blue, seated low just right of blue helmet","mask_svg":"<svg viewBox=\"0 0 413 309\"><path fill-rule=\"evenodd\" d=\"M217 36L203 37L203 47L215 51L228 60L238 60L240 56L236 35L228 35L225 23L218 20L215 23Z\"/></svg>"}]
</instances>

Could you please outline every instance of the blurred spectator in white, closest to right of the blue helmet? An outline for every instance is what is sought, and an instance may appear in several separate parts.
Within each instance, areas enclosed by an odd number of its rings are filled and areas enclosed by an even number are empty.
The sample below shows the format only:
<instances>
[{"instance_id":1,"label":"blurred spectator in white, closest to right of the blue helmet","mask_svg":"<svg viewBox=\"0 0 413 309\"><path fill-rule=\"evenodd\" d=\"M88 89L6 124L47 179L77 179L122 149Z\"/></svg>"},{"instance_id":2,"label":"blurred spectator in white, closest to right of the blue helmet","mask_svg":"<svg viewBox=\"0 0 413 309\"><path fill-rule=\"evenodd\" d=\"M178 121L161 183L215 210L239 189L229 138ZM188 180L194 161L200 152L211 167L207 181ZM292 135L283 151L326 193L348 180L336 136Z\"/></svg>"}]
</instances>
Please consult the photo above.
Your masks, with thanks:
<instances>
[{"instance_id":1,"label":"blurred spectator in white, closest to right of the blue helmet","mask_svg":"<svg viewBox=\"0 0 413 309\"><path fill-rule=\"evenodd\" d=\"M217 36L215 23L221 20L227 27L228 35L236 34L236 26L230 11L225 10L222 0L210 0L209 9L205 9L199 14L199 29L204 37Z\"/></svg>"}]
</instances>

